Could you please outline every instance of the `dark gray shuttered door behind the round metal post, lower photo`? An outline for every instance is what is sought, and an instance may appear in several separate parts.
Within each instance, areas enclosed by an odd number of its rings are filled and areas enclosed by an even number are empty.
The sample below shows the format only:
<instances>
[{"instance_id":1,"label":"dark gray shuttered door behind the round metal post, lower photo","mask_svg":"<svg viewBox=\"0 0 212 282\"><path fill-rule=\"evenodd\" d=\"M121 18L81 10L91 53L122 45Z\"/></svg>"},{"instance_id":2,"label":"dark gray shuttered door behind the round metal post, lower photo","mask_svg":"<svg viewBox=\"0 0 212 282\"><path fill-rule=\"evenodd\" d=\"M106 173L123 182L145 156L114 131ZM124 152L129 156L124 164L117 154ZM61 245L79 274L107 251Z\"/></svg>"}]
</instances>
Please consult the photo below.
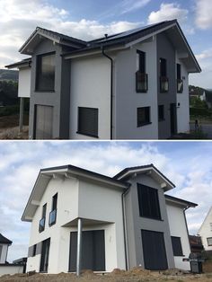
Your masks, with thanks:
<instances>
[{"instance_id":1,"label":"dark gray shuttered door behind the round metal post, lower photo","mask_svg":"<svg viewBox=\"0 0 212 282\"><path fill-rule=\"evenodd\" d=\"M77 233L70 235L69 271L76 269ZM105 271L104 231L84 231L82 235L82 269Z\"/></svg>"}]
</instances>

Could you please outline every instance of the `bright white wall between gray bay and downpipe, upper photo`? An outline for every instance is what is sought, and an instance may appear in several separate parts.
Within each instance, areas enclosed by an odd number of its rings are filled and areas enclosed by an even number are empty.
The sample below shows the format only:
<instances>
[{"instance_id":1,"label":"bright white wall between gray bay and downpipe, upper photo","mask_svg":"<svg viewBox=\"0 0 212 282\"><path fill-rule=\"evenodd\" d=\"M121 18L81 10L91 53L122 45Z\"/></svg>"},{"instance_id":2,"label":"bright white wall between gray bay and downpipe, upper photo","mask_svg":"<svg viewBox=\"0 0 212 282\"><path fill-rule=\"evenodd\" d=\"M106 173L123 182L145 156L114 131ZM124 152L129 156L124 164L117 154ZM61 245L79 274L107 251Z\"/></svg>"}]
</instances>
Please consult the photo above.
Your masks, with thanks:
<instances>
[{"instance_id":1,"label":"bright white wall between gray bay and downpipe, upper photo","mask_svg":"<svg viewBox=\"0 0 212 282\"><path fill-rule=\"evenodd\" d=\"M110 139L110 61L102 55L71 60L70 138L93 139L77 134L78 107L99 109L100 139ZM95 138L94 138L95 139Z\"/></svg>"}]
</instances>

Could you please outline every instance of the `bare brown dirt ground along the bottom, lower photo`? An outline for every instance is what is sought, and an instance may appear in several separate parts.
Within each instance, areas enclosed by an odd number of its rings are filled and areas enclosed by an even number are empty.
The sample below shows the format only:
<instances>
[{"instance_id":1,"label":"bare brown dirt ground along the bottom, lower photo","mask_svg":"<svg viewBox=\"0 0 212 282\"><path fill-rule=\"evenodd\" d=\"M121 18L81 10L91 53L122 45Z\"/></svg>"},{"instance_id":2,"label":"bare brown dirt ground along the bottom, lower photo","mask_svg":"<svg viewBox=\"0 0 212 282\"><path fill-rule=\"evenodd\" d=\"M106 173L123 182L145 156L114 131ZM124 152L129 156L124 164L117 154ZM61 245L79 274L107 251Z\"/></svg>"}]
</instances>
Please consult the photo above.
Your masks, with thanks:
<instances>
[{"instance_id":1,"label":"bare brown dirt ground along the bottom, lower photo","mask_svg":"<svg viewBox=\"0 0 212 282\"><path fill-rule=\"evenodd\" d=\"M4 276L0 278L0 282L163 282L163 281L176 281L176 282L211 282L212 273L196 274L181 272L177 269L170 269L163 272L149 271L140 268L132 269L129 271L114 269L110 274L98 275L93 274L91 270L85 270L80 278L76 278L75 274L60 273L57 275L50 274L35 274L27 276L27 274L17 274L13 276Z\"/></svg>"}]
</instances>

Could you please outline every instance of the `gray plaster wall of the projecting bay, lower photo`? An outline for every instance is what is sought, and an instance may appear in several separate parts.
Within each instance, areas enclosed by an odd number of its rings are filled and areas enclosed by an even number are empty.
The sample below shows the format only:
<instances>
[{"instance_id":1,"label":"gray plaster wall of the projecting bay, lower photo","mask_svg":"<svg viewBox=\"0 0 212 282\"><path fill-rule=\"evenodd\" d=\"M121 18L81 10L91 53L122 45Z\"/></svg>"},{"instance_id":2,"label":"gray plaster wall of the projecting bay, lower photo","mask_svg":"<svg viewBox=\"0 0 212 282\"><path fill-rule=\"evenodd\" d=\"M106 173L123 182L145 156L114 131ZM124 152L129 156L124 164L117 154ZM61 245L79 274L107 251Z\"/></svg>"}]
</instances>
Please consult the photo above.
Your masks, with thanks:
<instances>
[{"instance_id":1,"label":"gray plaster wall of the projecting bay, lower photo","mask_svg":"<svg viewBox=\"0 0 212 282\"><path fill-rule=\"evenodd\" d=\"M143 246L141 238L141 230L150 230L162 232L164 235L166 257L168 268L174 268L174 259L172 253L171 234L168 223L168 216L165 206L165 198L163 189L150 176L140 174L128 180L131 183L128 195L125 198L127 236L128 236L128 262L129 268L136 266L145 267ZM155 188L158 190L158 198L161 210L162 220L149 219L139 216L139 206L137 198L137 183Z\"/></svg>"}]
</instances>

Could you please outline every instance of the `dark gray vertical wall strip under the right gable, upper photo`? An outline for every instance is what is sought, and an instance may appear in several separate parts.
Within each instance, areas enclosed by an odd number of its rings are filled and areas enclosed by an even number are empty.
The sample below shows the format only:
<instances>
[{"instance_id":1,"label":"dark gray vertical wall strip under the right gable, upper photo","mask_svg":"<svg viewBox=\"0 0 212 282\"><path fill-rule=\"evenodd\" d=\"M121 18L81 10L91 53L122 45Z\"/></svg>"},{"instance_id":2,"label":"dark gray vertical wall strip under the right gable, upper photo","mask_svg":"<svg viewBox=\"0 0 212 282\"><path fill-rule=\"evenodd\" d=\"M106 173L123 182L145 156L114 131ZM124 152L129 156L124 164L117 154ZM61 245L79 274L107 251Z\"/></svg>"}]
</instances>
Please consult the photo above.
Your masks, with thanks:
<instances>
[{"instance_id":1,"label":"dark gray vertical wall strip under the right gable, upper photo","mask_svg":"<svg viewBox=\"0 0 212 282\"><path fill-rule=\"evenodd\" d=\"M169 78L169 91L160 93L160 57L167 61L167 77ZM157 34L157 103L164 105L164 120L158 122L158 138L171 137L170 104L177 103L176 94L176 60L175 49L165 33Z\"/></svg>"}]
</instances>

